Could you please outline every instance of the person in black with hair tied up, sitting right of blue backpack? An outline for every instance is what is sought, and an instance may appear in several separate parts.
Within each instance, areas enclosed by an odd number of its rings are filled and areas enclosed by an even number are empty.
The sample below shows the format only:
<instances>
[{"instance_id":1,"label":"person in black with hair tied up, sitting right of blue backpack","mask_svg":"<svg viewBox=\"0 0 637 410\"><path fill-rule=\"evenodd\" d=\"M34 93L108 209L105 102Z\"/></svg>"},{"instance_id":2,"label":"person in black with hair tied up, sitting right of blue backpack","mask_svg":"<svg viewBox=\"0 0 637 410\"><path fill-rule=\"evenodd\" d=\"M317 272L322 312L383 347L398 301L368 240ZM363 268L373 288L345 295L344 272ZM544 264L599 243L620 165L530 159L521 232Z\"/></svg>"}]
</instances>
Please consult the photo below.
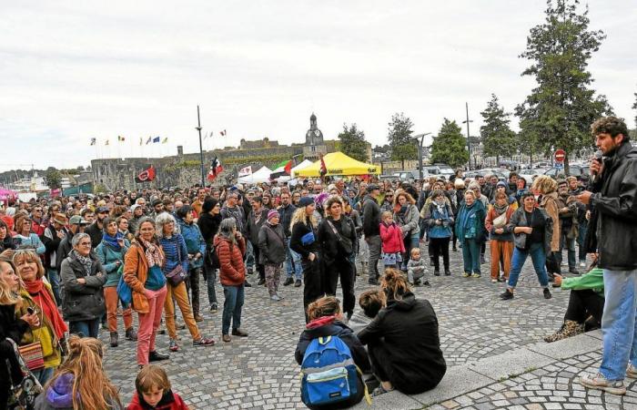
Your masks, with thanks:
<instances>
[{"instance_id":1,"label":"person in black with hair tied up, sitting right of blue backpack","mask_svg":"<svg viewBox=\"0 0 637 410\"><path fill-rule=\"evenodd\" d=\"M380 385L374 395L397 389L417 395L436 387L447 371L440 350L438 318L425 299L416 299L401 272L387 269L380 283L387 307L361 330Z\"/></svg>"}]
</instances>

